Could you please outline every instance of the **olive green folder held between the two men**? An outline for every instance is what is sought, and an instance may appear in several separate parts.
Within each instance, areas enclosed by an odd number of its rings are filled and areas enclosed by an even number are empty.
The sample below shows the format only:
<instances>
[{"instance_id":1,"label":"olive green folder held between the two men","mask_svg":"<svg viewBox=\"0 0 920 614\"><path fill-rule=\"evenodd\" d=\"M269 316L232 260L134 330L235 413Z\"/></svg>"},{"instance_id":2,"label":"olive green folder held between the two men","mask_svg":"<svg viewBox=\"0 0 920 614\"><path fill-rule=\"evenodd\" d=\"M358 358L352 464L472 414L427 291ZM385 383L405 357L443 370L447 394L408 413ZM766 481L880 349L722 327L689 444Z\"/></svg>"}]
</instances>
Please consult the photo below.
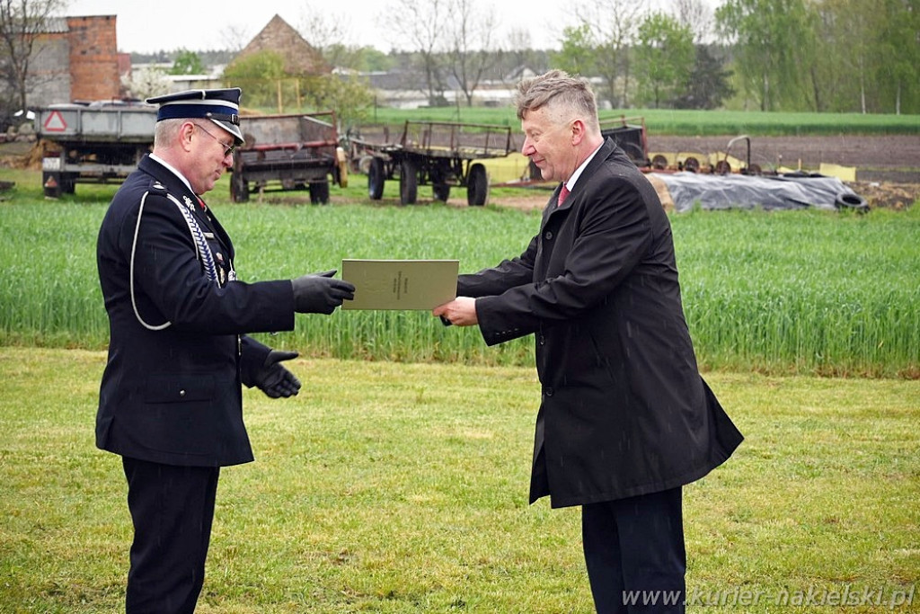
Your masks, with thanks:
<instances>
[{"instance_id":1,"label":"olive green folder held between the two men","mask_svg":"<svg viewBox=\"0 0 920 614\"><path fill-rule=\"evenodd\" d=\"M341 278L354 284L343 309L433 309L454 300L460 261L343 260Z\"/></svg>"}]
</instances>

